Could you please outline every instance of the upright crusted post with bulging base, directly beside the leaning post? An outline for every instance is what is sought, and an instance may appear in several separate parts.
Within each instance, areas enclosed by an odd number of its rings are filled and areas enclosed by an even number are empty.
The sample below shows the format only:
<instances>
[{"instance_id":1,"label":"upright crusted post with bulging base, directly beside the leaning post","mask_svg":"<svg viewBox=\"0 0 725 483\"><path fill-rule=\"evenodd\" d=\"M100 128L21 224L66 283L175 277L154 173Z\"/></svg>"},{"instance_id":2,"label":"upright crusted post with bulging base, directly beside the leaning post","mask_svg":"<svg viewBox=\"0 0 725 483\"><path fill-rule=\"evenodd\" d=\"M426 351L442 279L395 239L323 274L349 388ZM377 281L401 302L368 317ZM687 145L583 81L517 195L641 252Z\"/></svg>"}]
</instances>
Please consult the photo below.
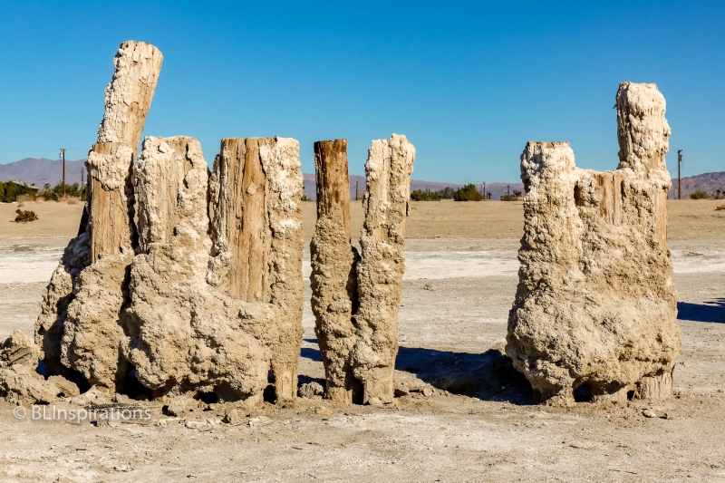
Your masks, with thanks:
<instances>
[{"instance_id":1,"label":"upright crusted post with bulging base, directly beside the leaning post","mask_svg":"<svg viewBox=\"0 0 725 483\"><path fill-rule=\"evenodd\" d=\"M200 391L220 401L261 401L268 351L265 306L207 284L208 167L198 140L146 138L134 170L140 255L131 265L128 355L157 395Z\"/></svg>"}]
</instances>

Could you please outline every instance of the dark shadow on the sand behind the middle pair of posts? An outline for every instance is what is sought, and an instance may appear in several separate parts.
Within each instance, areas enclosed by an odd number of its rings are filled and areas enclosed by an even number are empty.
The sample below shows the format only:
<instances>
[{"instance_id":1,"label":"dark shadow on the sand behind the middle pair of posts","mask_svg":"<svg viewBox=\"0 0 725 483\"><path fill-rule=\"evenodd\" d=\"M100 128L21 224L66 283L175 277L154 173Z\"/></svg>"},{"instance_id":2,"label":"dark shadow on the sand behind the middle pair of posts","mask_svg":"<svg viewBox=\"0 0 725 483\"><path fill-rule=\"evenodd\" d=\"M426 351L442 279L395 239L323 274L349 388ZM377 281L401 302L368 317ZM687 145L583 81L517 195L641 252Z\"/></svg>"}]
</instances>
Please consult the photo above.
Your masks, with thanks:
<instances>
[{"instance_id":1,"label":"dark shadow on the sand behind the middle pair of posts","mask_svg":"<svg viewBox=\"0 0 725 483\"><path fill-rule=\"evenodd\" d=\"M317 343L316 339L305 339ZM320 361L320 351L306 347L302 356ZM420 347L401 347L395 369L411 372L431 386L482 401L533 404L531 385L514 369L501 346L485 353L453 353Z\"/></svg>"}]
</instances>

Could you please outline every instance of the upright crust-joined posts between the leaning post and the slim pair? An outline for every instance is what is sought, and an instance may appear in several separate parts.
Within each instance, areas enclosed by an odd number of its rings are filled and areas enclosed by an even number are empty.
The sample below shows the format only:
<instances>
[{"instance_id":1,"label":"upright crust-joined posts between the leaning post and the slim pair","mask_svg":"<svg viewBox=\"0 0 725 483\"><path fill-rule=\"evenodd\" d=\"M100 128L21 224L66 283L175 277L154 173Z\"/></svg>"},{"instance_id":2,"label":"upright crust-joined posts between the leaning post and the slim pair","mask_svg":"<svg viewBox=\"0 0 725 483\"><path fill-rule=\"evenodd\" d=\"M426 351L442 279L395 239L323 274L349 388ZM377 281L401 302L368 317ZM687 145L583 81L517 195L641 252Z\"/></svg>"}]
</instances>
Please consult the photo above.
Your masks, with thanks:
<instances>
[{"instance_id":1,"label":"upright crust-joined posts between the leaning post and the slim pair","mask_svg":"<svg viewBox=\"0 0 725 483\"><path fill-rule=\"evenodd\" d=\"M296 140L229 139L209 178L198 141L147 138L135 168L140 255L129 359L156 395L296 393L302 173ZM209 216L210 215L210 216Z\"/></svg>"}]
</instances>

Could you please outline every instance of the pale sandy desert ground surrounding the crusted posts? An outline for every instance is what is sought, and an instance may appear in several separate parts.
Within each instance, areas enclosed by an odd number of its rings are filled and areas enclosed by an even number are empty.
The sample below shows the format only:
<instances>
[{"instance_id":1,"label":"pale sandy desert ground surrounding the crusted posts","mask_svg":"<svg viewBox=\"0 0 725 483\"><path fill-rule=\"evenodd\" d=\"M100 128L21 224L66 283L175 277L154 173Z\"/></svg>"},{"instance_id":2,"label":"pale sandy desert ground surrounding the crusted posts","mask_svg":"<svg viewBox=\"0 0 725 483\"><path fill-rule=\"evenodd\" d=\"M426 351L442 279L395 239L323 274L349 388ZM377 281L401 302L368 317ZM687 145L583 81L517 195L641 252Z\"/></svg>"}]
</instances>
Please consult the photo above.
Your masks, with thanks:
<instances>
[{"instance_id":1,"label":"pale sandy desert ground surrounding the crusted posts","mask_svg":"<svg viewBox=\"0 0 725 483\"><path fill-rule=\"evenodd\" d=\"M671 201L668 237L683 353L676 397L575 409L531 404L498 353L517 285L521 203L413 203L397 378L411 391L382 408L298 399L220 424L212 405L149 424L16 420L0 403L7 481L662 481L725 480L725 211ZM38 301L81 205L0 204L0 334L33 332ZM362 208L353 206L353 233ZM307 245L314 203L304 205ZM304 258L309 275L309 253ZM304 312L300 382L323 368ZM448 390L448 391L447 391ZM426 394L429 391L425 391ZM645 418L652 410L670 419ZM189 420L201 421L188 428ZM193 423L191 425L194 425Z\"/></svg>"}]
</instances>

